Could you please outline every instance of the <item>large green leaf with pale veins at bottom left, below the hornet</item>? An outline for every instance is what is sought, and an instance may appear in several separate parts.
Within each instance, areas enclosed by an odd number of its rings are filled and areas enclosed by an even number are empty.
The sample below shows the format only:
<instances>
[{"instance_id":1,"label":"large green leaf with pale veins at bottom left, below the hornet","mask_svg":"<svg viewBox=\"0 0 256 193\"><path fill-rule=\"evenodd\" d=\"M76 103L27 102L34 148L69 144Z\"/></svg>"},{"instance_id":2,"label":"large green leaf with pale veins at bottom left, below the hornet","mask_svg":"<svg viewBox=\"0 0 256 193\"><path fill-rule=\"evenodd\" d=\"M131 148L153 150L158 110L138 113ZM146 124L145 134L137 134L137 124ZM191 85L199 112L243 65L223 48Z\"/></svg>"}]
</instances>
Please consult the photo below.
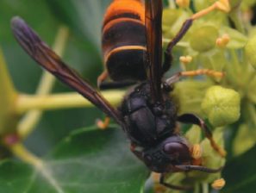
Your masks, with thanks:
<instances>
[{"instance_id":1,"label":"large green leaf with pale veins at bottom left, below the hornet","mask_svg":"<svg viewBox=\"0 0 256 193\"><path fill-rule=\"evenodd\" d=\"M62 140L40 169L14 160L0 165L0 192L140 192L148 171L121 130L84 128Z\"/></svg>"}]
</instances>

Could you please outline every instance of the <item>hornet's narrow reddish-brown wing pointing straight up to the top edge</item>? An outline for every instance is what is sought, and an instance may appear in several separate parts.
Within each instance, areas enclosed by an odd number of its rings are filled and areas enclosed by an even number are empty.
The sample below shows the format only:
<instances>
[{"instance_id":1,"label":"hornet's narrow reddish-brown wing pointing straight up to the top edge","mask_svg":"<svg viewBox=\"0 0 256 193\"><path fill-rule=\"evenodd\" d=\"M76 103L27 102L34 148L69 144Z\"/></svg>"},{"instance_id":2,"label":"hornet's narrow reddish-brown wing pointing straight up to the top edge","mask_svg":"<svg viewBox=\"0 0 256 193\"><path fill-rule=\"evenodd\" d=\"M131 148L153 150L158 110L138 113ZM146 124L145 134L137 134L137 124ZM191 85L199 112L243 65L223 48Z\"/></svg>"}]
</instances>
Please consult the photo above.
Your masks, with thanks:
<instances>
[{"instance_id":1,"label":"hornet's narrow reddish-brown wing pointing straight up to the top edge","mask_svg":"<svg viewBox=\"0 0 256 193\"><path fill-rule=\"evenodd\" d=\"M146 0L147 53L149 62L148 78L154 103L162 102L162 0Z\"/></svg>"}]
</instances>

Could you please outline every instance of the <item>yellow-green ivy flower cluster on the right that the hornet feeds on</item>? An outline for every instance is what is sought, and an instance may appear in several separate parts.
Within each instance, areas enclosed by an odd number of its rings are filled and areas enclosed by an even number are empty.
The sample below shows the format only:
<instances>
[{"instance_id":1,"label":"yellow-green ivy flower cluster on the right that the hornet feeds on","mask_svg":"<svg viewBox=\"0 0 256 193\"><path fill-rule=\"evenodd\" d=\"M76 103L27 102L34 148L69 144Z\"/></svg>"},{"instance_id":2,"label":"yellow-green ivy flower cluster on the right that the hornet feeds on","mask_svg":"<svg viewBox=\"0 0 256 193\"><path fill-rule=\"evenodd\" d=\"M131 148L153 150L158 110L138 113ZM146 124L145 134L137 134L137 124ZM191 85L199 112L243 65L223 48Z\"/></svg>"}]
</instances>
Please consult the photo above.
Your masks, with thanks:
<instances>
[{"instance_id":1,"label":"yellow-green ivy flower cluster on the right that the hornet feeds on","mask_svg":"<svg viewBox=\"0 0 256 193\"><path fill-rule=\"evenodd\" d=\"M169 8L163 13L164 44L172 40L193 13L215 2L195 0L190 2L190 7L184 8L170 1ZM253 35L255 29L251 24L251 6L256 1L230 0L229 3L228 13L214 10L193 22L174 49L172 68L176 67L176 71L182 72L209 69L223 72L225 76L184 78L175 84L172 96L178 103L179 114L194 113L208 120L219 145L224 144L224 133L237 131L236 137L230 142L233 144L232 152L228 152L230 156L236 156L246 152L256 142L256 36ZM190 62L179 62L178 56L190 56ZM215 153L209 140L201 138L201 133L200 128L193 126L185 136L191 144L200 144L202 165L209 168L224 165L225 159ZM248 142L241 145L241 140ZM167 181L198 188L198 184L211 184L220 177L220 173L193 171L172 174Z\"/></svg>"}]
</instances>

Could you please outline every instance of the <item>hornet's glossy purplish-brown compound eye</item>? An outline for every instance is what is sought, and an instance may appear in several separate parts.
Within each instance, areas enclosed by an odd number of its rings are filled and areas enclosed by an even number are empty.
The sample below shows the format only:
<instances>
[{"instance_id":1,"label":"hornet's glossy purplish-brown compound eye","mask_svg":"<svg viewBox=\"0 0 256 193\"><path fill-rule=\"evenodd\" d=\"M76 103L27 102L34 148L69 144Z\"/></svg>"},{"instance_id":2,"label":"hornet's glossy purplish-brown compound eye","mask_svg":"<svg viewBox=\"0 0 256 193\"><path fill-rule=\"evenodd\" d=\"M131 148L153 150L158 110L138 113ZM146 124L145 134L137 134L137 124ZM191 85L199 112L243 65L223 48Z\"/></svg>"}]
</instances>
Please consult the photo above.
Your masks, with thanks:
<instances>
[{"instance_id":1,"label":"hornet's glossy purplish-brown compound eye","mask_svg":"<svg viewBox=\"0 0 256 193\"><path fill-rule=\"evenodd\" d=\"M178 142L170 142L165 144L164 151L170 155L171 159L179 162L188 161L190 159L190 151L187 146Z\"/></svg>"}]
</instances>

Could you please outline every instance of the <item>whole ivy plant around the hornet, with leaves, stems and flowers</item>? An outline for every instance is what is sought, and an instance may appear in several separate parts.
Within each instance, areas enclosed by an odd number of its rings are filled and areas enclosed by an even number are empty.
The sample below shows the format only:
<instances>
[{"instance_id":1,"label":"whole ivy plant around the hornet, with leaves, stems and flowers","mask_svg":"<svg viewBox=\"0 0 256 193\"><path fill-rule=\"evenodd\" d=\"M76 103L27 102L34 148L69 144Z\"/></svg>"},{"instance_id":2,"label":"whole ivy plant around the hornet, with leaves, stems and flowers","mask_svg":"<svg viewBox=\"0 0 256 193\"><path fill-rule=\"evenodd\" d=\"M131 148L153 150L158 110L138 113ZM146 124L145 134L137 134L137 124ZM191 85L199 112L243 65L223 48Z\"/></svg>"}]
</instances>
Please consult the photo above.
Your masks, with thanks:
<instances>
[{"instance_id":1,"label":"whole ivy plant around the hornet, with leaves, stems and flowers","mask_svg":"<svg viewBox=\"0 0 256 193\"><path fill-rule=\"evenodd\" d=\"M0 2L0 191L175 192L161 186L129 151L120 126L95 125L103 113L41 72L18 47L10 32L12 16L22 16L53 50L96 84L102 71L100 31L103 11L111 1ZM222 172L172 173L166 181L191 185L190 192L254 192L256 166L256 72L254 35L256 1L169 0L163 11L163 48L194 13L214 10L197 19L173 50L166 78L175 72L221 72L224 76L183 78L171 95L178 113L203 117L214 138L225 147L221 157L196 126L180 126L191 144L202 149L201 165ZM217 9L215 9L217 8ZM125 90L103 91L118 105ZM177 190L178 191L178 190ZM179 192L179 191L178 191Z\"/></svg>"}]
</instances>

